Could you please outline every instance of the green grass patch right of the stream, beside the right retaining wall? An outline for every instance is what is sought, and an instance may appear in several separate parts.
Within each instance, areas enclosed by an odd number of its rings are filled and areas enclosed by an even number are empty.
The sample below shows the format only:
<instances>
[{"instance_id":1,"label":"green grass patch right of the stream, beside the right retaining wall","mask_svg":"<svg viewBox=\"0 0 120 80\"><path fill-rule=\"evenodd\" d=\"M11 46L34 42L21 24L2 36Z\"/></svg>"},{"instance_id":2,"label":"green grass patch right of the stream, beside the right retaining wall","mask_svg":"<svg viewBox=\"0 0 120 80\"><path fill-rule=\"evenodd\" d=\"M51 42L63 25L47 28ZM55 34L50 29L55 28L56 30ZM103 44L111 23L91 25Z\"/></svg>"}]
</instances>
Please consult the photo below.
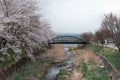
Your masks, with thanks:
<instances>
[{"instance_id":1,"label":"green grass patch right of the stream, beside the right retaining wall","mask_svg":"<svg viewBox=\"0 0 120 80\"><path fill-rule=\"evenodd\" d=\"M85 80L109 80L109 75L105 72L104 68L100 68L93 61L87 64L81 61L78 67L82 73Z\"/></svg>"}]
</instances>

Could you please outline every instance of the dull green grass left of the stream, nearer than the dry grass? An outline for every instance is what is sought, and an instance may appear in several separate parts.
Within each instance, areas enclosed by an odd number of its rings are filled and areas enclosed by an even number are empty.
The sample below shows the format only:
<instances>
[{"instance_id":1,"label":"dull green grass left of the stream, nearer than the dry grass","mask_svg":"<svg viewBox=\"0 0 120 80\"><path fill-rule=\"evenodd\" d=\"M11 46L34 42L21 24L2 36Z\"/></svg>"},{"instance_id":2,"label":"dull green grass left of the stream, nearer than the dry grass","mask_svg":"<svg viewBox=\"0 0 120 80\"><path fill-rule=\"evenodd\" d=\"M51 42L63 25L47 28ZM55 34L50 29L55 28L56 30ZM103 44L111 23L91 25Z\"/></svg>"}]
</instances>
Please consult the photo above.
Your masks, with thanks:
<instances>
[{"instance_id":1,"label":"dull green grass left of the stream, nearer than the dry grass","mask_svg":"<svg viewBox=\"0 0 120 80\"><path fill-rule=\"evenodd\" d=\"M43 75L48 68L46 65L50 65L53 62L53 57L37 59L36 62L28 62L19 71L15 72L14 77L10 80L43 80Z\"/></svg>"}]
</instances>

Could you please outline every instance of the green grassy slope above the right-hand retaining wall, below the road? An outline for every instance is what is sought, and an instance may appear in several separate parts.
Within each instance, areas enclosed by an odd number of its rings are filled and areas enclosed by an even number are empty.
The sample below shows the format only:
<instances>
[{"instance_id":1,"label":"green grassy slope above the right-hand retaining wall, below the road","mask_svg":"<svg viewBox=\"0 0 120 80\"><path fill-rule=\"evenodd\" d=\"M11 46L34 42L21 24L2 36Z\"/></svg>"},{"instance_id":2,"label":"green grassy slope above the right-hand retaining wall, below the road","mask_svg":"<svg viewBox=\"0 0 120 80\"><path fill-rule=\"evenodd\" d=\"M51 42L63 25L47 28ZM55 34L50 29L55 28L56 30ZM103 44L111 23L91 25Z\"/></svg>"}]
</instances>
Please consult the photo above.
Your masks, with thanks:
<instances>
[{"instance_id":1,"label":"green grassy slope above the right-hand retaining wall, below the road","mask_svg":"<svg viewBox=\"0 0 120 80\"><path fill-rule=\"evenodd\" d=\"M120 52L115 49L89 44L87 48L105 56L115 68L120 72Z\"/></svg>"}]
</instances>

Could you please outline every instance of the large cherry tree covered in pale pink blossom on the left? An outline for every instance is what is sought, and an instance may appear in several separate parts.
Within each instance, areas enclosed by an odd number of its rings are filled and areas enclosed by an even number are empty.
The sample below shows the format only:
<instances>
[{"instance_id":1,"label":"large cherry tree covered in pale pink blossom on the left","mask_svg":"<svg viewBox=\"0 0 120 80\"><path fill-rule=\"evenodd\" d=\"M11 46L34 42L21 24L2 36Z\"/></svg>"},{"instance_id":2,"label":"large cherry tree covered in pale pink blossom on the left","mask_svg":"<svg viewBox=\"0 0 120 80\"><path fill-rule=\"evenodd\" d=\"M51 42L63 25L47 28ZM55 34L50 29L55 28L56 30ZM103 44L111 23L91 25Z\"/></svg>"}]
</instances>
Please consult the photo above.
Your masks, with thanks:
<instances>
[{"instance_id":1,"label":"large cherry tree covered in pale pink blossom on the left","mask_svg":"<svg viewBox=\"0 0 120 80\"><path fill-rule=\"evenodd\" d=\"M54 36L49 23L35 11L36 0L0 0L0 52L10 56L12 49L20 58L22 47L34 60L33 49L44 48ZM5 60L1 57L0 60Z\"/></svg>"}]
</instances>

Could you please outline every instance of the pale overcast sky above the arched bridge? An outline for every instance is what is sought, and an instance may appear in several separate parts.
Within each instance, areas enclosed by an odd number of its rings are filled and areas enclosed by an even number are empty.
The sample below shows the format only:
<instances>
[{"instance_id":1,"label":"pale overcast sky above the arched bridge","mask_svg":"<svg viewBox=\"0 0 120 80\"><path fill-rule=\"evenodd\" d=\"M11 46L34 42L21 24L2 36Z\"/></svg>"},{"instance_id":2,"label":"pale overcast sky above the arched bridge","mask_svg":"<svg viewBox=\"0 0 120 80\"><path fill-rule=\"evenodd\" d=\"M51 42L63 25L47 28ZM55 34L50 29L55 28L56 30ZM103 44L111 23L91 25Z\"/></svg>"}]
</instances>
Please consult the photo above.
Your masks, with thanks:
<instances>
[{"instance_id":1,"label":"pale overcast sky above the arched bridge","mask_svg":"<svg viewBox=\"0 0 120 80\"><path fill-rule=\"evenodd\" d=\"M40 7L56 33L95 32L104 14L120 14L120 0L40 0Z\"/></svg>"}]
</instances>

